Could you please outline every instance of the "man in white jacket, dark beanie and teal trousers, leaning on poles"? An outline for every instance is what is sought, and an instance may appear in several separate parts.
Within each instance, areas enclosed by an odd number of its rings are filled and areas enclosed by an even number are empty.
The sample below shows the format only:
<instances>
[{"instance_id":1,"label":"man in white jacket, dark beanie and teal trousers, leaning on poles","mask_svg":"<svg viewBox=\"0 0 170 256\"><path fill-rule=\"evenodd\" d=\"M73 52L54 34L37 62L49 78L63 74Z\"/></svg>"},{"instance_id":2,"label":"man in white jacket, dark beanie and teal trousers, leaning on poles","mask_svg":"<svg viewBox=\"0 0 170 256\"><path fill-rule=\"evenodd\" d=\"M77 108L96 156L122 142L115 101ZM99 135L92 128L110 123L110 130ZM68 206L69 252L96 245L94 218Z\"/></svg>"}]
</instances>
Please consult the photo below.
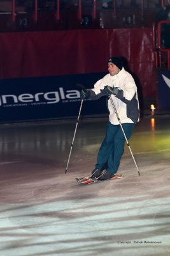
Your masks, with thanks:
<instances>
[{"instance_id":1,"label":"man in white jacket, dark beanie and teal trousers, leaning on poles","mask_svg":"<svg viewBox=\"0 0 170 256\"><path fill-rule=\"evenodd\" d=\"M137 86L131 74L125 71L122 58L111 57L108 60L108 72L109 74L94 84L92 90L83 89L80 92L81 99L97 100L103 96L108 97L107 103L110 114L106 135L99 148L96 166L92 171L92 177L99 177L99 180L110 179L117 173L120 159L124 154L125 136L129 140L135 124L139 122ZM119 120L111 100L117 109Z\"/></svg>"}]
</instances>

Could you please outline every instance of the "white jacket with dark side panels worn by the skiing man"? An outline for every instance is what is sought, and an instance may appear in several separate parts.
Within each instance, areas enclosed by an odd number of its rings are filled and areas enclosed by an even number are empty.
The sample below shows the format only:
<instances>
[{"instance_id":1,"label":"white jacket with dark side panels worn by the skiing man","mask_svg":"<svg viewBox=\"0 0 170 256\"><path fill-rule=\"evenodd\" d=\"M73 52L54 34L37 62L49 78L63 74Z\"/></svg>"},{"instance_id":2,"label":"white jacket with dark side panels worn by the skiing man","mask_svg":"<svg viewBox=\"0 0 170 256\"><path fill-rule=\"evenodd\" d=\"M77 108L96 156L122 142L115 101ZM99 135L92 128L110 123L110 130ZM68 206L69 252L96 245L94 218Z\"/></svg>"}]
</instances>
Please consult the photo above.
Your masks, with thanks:
<instances>
[{"instance_id":1,"label":"white jacket with dark side panels worn by the skiing man","mask_svg":"<svg viewBox=\"0 0 170 256\"><path fill-rule=\"evenodd\" d=\"M131 74L125 71L124 68L115 76L107 74L94 84L94 88L90 90L89 97L91 99L99 99L104 96L104 86L107 85L118 88L117 95L111 95L111 99L113 99L117 109L120 122L122 124L137 123L139 121L139 100L137 86ZM110 99L108 100L108 110L111 124L119 124Z\"/></svg>"}]
</instances>

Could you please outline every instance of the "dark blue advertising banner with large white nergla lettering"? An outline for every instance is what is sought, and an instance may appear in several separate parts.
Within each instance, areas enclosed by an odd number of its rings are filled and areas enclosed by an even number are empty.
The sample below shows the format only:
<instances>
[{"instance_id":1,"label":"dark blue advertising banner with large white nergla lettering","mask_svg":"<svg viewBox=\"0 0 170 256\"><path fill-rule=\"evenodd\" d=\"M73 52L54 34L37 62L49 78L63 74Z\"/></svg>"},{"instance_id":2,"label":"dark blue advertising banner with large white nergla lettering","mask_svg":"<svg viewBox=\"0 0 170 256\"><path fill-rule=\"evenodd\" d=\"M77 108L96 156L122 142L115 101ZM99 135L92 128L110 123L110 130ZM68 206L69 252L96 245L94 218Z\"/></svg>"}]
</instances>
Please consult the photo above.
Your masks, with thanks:
<instances>
[{"instance_id":1,"label":"dark blue advertising banner with large white nergla lettering","mask_svg":"<svg viewBox=\"0 0 170 256\"><path fill-rule=\"evenodd\" d=\"M106 73L0 80L0 122L78 116L80 91ZM106 98L84 100L81 115L107 113Z\"/></svg>"}]
</instances>

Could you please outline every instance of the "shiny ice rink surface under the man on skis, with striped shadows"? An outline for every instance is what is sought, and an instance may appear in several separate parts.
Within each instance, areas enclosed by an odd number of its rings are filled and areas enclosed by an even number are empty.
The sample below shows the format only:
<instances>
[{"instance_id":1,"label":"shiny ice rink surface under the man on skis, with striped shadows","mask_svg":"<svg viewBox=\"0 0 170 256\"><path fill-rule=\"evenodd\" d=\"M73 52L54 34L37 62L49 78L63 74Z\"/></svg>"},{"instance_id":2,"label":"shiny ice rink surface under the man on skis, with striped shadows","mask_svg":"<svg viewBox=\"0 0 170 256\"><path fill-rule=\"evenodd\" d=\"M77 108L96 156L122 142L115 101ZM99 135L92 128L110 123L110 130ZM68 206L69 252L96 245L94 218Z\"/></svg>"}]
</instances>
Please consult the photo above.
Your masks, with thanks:
<instances>
[{"instance_id":1,"label":"shiny ice rink surface under the man on skis, with striped shadows","mask_svg":"<svg viewBox=\"0 0 170 256\"><path fill-rule=\"evenodd\" d=\"M169 256L170 115L144 116L117 180L81 185L108 118L0 125L0 256Z\"/></svg>"}]
</instances>

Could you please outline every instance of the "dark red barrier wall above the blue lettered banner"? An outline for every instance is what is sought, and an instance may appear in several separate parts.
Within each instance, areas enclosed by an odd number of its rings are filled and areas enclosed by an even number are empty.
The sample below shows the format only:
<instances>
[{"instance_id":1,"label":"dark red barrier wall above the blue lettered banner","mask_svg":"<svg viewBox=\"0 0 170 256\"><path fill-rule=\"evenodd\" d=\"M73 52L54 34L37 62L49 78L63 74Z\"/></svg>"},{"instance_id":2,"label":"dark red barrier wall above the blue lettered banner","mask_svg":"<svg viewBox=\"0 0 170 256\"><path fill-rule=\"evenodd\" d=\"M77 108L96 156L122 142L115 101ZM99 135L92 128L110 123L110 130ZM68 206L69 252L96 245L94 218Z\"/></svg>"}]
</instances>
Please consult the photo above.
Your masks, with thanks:
<instances>
[{"instance_id":1,"label":"dark red barrier wall above the blue lettered banner","mask_svg":"<svg viewBox=\"0 0 170 256\"><path fill-rule=\"evenodd\" d=\"M152 28L1 33L0 79L105 72L110 56L124 56L143 97L155 97L152 45Z\"/></svg>"}]
</instances>

